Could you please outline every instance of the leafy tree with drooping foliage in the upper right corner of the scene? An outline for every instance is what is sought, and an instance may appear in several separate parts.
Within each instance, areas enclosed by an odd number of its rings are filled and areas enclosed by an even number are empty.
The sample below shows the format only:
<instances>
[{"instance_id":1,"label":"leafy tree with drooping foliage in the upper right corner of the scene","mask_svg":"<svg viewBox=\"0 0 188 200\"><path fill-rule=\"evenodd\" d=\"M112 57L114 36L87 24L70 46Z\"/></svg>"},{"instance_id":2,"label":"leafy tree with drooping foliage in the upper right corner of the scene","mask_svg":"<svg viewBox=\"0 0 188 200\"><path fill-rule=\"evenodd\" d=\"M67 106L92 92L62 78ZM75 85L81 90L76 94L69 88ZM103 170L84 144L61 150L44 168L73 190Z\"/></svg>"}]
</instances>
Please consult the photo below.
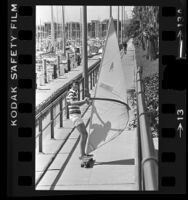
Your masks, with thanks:
<instances>
[{"instance_id":1,"label":"leafy tree with drooping foliage in the upper right corner of the scene","mask_svg":"<svg viewBox=\"0 0 188 200\"><path fill-rule=\"evenodd\" d=\"M126 34L134 39L135 45L146 50L148 59L156 59L159 52L159 7L135 6Z\"/></svg>"}]
</instances>

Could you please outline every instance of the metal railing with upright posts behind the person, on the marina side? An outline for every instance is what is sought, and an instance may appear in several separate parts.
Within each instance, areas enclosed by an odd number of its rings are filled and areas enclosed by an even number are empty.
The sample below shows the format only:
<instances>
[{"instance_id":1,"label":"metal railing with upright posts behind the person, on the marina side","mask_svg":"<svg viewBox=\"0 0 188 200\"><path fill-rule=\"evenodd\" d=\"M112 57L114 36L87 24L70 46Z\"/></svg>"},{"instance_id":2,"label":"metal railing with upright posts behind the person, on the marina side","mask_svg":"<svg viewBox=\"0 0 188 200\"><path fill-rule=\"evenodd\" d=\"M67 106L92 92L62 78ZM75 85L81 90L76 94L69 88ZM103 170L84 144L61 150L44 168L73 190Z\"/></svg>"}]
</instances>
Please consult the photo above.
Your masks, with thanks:
<instances>
[{"instance_id":1,"label":"metal railing with upright posts behind the person, on the marina side","mask_svg":"<svg viewBox=\"0 0 188 200\"><path fill-rule=\"evenodd\" d=\"M97 61L89 68L89 89L92 90L97 82L97 75L100 66L100 60ZM84 78L82 74L79 74L74 80L77 80L79 83L78 89L78 98L84 99ZM50 126L50 138L55 138L55 120L59 117L59 126L63 127L63 117L66 119L69 118L67 103L66 103L66 94L72 84L71 80L65 84L62 88L56 91L51 97L49 97L42 105L39 105L35 111L35 126L38 126L38 134L36 134L35 139L38 139L39 152L43 152L43 136L44 131ZM59 111L54 114L54 108L58 107ZM64 112L65 111L65 112ZM45 116L50 113L50 121L45 126L43 125L43 120ZM66 113L66 116L63 116Z\"/></svg>"}]
</instances>

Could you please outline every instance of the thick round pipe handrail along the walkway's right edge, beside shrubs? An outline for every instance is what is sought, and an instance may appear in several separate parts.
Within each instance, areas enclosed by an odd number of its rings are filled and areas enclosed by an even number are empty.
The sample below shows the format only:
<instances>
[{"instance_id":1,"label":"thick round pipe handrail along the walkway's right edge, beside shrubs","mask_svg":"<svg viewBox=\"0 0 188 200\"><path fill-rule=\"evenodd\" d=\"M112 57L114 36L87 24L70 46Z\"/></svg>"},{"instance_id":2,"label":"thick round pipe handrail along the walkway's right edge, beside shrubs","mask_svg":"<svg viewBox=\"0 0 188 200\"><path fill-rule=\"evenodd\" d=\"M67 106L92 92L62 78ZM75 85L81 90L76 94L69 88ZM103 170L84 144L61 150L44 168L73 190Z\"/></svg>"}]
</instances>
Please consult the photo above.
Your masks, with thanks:
<instances>
[{"instance_id":1,"label":"thick round pipe handrail along the walkway's right edge, beside shrubs","mask_svg":"<svg viewBox=\"0 0 188 200\"><path fill-rule=\"evenodd\" d=\"M138 67L136 73L138 118L141 139L141 178L143 190L158 190L158 160L155 157L155 150L151 130L145 112L145 101L142 84L142 71Z\"/></svg>"}]
</instances>

